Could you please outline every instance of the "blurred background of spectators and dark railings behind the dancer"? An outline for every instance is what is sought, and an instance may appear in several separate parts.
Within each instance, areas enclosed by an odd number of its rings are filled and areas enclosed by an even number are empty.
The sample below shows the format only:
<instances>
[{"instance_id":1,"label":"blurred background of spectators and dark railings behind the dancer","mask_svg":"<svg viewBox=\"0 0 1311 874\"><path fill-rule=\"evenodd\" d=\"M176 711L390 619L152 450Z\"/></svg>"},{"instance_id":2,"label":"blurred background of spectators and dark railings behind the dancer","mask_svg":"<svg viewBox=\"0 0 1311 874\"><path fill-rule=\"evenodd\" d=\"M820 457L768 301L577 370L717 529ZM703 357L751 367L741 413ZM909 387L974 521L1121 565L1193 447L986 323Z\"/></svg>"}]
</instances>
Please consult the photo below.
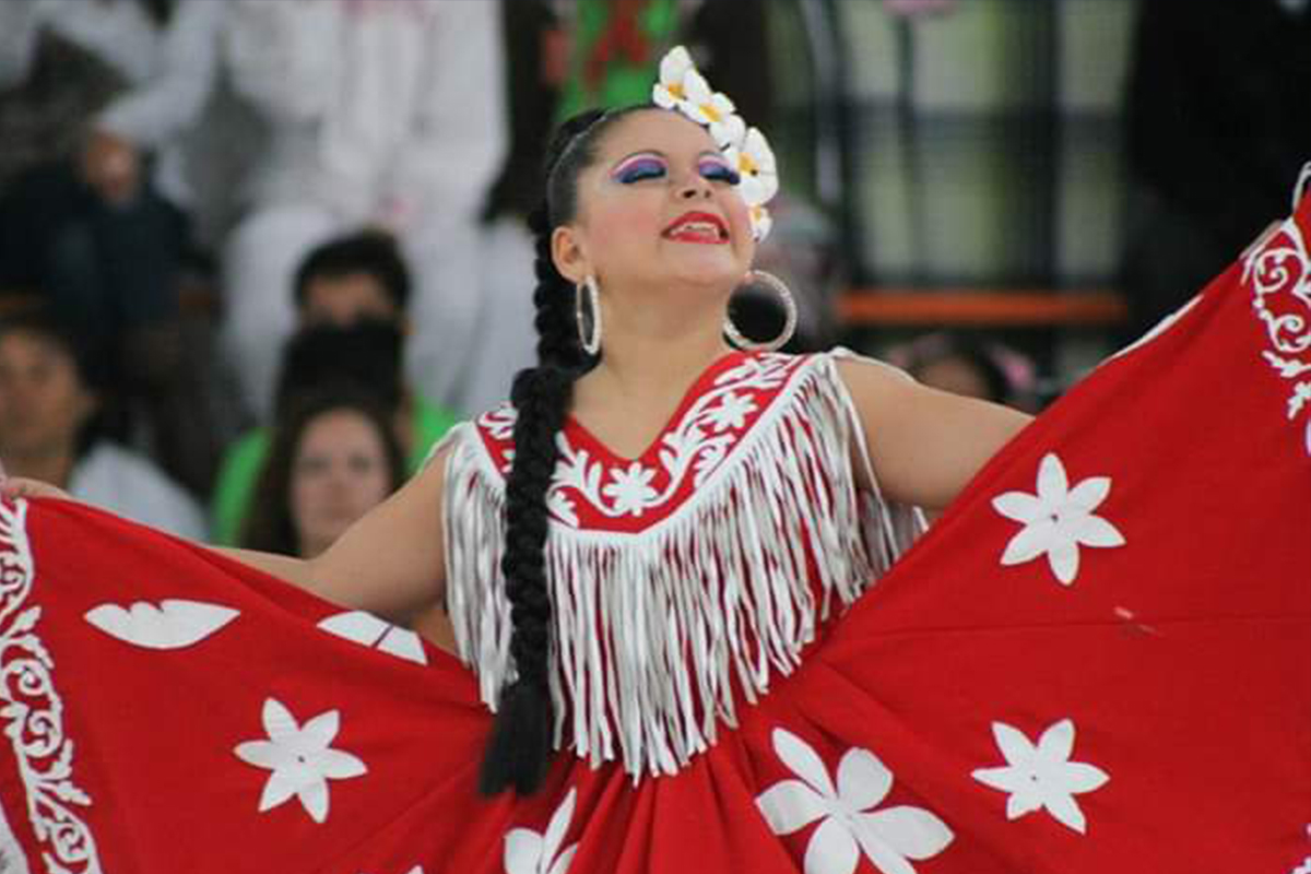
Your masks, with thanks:
<instances>
[{"instance_id":1,"label":"blurred background of spectators and dark railings behind the dancer","mask_svg":"<svg viewBox=\"0 0 1311 874\"><path fill-rule=\"evenodd\" d=\"M1289 212L1307 7L0 0L0 457L321 549L531 362L544 143L678 43L777 155L791 349L1041 410Z\"/></svg>"}]
</instances>

